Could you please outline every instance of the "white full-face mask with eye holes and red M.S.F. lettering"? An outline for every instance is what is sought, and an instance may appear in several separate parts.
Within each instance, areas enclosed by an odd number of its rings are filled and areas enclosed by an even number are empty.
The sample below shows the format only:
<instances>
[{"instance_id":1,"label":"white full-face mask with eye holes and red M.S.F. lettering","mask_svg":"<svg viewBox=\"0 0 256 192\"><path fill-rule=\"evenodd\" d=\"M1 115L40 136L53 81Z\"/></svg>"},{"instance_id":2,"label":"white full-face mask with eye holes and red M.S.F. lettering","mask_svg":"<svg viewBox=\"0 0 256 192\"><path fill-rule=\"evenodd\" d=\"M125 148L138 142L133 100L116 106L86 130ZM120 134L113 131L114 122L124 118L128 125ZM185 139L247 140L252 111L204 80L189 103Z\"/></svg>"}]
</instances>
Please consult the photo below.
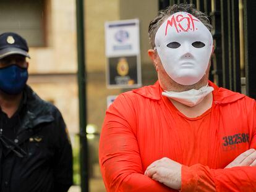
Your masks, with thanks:
<instances>
[{"instance_id":1,"label":"white full-face mask with eye holes and red M.S.F. lettering","mask_svg":"<svg viewBox=\"0 0 256 192\"><path fill-rule=\"evenodd\" d=\"M155 44L164 70L176 83L197 83L208 67L213 49L210 31L193 15L177 12L163 22Z\"/></svg>"}]
</instances>

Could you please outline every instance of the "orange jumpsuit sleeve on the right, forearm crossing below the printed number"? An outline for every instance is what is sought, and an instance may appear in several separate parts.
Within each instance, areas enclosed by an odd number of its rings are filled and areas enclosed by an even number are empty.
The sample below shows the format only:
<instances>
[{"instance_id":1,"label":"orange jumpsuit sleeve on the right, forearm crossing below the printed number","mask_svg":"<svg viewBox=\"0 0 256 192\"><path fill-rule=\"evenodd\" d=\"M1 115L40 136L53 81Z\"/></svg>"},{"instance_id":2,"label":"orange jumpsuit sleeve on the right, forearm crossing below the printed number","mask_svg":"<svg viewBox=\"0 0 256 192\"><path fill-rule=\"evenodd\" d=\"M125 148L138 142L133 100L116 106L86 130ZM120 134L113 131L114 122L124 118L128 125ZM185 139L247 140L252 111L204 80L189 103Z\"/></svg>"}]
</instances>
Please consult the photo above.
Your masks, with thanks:
<instances>
[{"instance_id":1,"label":"orange jumpsuit sleeve on the right, forearm crossing below the printed number","mask_svg":"<svg viewBox=\"0 0 256 192\"><path fill-rule=\"evenodd\" d=\"M253 136L249 148L256 149L256 108L250 115ZM256 167L210 169L201 164L182 165L181 191L256 191Z\"/></svg>"}]
</instances>

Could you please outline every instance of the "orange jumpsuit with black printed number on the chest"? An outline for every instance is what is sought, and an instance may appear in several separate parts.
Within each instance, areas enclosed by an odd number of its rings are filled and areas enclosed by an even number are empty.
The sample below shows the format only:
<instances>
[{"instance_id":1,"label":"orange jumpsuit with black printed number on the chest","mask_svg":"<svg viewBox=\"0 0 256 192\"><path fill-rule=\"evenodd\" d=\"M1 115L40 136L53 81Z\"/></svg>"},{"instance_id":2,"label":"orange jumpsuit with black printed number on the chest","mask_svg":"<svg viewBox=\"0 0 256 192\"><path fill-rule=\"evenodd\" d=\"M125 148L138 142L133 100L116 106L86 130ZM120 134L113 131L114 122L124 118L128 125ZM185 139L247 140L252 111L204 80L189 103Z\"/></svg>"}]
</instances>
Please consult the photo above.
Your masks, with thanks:
<instances>
[{"instance_id":1,"label":"orange jumpsuit with black printed number on the chest","mask_svg":"<svg viewBox=\"0 0 256 192\"><path fill-rule=\"evenodd\" d=\"M143 175L168 157L182 164L181 191L256 191L256 167L224 169L256 149L255 100L213 86L208 111L188 118L158 83L119 95L106 111L100 166L108 191L175 191Z\"/></svg>"}]
</instances>

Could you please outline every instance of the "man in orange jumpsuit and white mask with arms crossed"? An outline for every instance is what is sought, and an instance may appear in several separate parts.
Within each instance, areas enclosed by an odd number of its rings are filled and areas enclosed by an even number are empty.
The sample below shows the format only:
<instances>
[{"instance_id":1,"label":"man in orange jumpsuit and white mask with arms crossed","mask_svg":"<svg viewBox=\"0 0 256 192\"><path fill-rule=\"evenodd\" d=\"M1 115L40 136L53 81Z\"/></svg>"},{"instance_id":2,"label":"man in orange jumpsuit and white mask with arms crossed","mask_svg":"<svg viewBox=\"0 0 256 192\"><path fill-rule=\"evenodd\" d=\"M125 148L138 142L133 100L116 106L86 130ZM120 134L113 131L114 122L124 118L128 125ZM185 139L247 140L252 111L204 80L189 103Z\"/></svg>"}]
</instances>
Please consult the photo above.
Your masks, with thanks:
<instances>
[{"instance_id":1,"label":"man in orange jumpsuit and white mask with arms crossed","mask_svg":"<svg viewBox=\"0 0 256 192\"><path fill-rule=\"evenodd\" d=\"M108 191L256 191L256 104L208 81L207 17L189 4L151 21L155 85L106 111L100 165Z\"/></svg>"}]
</instances>

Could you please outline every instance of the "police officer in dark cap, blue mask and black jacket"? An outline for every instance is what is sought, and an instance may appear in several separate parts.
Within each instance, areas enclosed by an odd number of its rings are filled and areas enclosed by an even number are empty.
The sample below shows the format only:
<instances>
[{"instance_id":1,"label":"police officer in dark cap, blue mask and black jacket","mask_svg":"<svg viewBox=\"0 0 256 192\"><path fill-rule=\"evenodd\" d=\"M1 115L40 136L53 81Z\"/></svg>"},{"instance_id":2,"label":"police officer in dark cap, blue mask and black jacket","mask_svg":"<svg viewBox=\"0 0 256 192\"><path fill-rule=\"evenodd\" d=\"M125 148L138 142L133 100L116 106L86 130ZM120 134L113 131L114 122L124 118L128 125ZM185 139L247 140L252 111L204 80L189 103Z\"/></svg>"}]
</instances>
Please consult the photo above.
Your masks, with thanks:
<instances>
[{"instance_id":1,"label":"police officer in dark cap, blue mask and black jacket","mask_svg":"<svg viewBox=\"0 0 256 192\"><path fill-rule=\"evenodd\" d=\"M0 191L67 191L72 149L59 110L28 86L27 42L0 35Z\"/></svg>"}]
</instances>

